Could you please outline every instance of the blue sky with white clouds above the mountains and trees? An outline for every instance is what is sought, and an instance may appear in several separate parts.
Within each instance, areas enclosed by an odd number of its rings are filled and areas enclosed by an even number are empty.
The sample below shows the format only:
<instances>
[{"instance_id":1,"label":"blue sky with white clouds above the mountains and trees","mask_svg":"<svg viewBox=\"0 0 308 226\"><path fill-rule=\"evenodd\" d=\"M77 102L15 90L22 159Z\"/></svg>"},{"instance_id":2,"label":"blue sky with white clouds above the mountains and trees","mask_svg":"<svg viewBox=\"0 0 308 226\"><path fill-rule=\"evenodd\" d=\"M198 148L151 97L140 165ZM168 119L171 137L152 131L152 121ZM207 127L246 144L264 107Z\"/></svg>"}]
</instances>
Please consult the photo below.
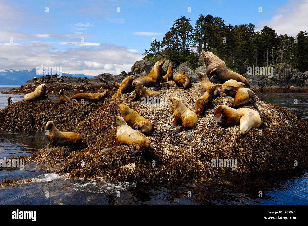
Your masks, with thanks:
<instances>
[{"instance_id":1,"label":"blue sky with white clouds above the mountains and trees","mask_svg":"<svg viewBox=\"0 0 308 226\"><path fill-rule=\"evenodd\" d=\"M66 73L128 72L150 48L152 38L160 41L181 16L190 18L194 25L200 14L212 14L226 24L254 23L257 30L268 25L278 34L295 36L308 30L307 11L307 0L1 0L0 70L32 69L43 64L61 66Z\"/></svg>"}]
</instances>

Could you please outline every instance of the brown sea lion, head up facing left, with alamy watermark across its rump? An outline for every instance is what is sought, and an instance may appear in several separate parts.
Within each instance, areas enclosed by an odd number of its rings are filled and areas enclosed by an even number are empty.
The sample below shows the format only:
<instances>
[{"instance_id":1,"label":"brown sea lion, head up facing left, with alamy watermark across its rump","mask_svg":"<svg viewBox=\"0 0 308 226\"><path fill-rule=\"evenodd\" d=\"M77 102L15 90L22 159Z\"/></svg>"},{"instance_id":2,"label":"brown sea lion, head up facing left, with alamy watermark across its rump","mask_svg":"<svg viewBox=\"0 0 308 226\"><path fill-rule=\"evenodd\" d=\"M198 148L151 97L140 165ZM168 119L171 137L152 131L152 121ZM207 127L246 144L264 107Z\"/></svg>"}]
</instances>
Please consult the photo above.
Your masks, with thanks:
<instances>
[{"instance_id":1,"label":"brown sea lion, head up facing left, with alamy watermark across its rump","mask_svg":"<svg viewBox=\"0 0 308 226\"><path fill-rule=\"evenodd\" d=\"M135 86L135 97L128 100L131 101L139 100L141 104L146 104L146 102L150 102L149 104L160 102L160 93L144 89L140 81L134 80L133 86Z\"/></svg>"}]
</instances>

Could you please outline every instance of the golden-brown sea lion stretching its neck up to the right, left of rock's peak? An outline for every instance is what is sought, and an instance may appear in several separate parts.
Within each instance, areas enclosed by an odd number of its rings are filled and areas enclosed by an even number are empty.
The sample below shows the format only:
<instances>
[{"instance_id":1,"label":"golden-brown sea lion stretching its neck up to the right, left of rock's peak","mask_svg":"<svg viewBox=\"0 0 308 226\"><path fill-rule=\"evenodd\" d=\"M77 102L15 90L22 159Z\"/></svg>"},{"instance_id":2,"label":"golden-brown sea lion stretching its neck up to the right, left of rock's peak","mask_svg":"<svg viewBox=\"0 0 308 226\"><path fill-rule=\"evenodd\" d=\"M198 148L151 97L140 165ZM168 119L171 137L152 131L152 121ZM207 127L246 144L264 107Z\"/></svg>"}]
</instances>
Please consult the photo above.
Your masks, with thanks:
<instances>
[{"instance_id":1,"label":"golden-brown sea lion stretching its neck up to the right, left of rock's peak","mask_svg":"<svg viewBox=\"0 0 308 226\"><path fill-rule=\"evenodd\" d=\"M157 61L148 75L136 78L134 81L140 81L143 86L152 87L153 91L160 89L160 81L163 77L163 65L165 61Z\"/></svg>"}]
</instances>

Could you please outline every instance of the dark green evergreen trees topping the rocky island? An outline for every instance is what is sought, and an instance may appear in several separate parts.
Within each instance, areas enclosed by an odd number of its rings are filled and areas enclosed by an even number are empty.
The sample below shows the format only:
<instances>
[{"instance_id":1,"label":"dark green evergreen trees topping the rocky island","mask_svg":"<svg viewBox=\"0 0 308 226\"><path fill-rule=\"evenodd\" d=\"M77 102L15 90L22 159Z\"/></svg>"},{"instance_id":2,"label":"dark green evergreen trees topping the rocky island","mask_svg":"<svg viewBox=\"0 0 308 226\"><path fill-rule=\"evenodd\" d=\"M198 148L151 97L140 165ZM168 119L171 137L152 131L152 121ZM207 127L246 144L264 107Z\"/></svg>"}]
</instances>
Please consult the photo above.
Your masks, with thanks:
<instances>
[{"instance_id":1,"label":"dark green evergreen trees topping the rocky island","mask_svg":"<svg viewBox=\"0 0 308 226\"><path fill-rule=\"evenodd\" d=\"M226 25L219 17L200 15L194 25L185 16L174 21L161 41L153 40L145 58L164 57L176 64L197 64L202 51L211 51L227 67L243 74L247 67L292 64L300 71L308 69L308 36L300 31L296 37L277 34L269 26L256 31L252 23Z\"/></svg>"}]
</instances>

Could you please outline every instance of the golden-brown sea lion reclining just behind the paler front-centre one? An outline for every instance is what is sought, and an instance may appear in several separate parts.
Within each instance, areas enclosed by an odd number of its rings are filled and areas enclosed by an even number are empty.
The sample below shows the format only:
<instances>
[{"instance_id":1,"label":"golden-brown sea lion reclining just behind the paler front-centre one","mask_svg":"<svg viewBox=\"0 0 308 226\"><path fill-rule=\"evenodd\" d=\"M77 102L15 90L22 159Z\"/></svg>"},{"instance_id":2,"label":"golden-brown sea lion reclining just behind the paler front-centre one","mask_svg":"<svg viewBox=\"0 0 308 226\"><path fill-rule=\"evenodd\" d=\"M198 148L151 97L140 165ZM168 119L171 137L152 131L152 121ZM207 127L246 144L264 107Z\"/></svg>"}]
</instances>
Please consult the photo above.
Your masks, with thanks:
<instances>
[{"instance_id":1,"label":"golden-brown sea lion reclining just behind the paler front-centre one","mask_svg":"<svg viewBox=\"0 0 308 226\"><path fill-rule=\"evenodd\" d=\"M145 136L152 135L154 127L151 122L124 104L118 104L117 106L127 125L129 125L132 129L143 133Z\"/></svg>"}]
</instances>

